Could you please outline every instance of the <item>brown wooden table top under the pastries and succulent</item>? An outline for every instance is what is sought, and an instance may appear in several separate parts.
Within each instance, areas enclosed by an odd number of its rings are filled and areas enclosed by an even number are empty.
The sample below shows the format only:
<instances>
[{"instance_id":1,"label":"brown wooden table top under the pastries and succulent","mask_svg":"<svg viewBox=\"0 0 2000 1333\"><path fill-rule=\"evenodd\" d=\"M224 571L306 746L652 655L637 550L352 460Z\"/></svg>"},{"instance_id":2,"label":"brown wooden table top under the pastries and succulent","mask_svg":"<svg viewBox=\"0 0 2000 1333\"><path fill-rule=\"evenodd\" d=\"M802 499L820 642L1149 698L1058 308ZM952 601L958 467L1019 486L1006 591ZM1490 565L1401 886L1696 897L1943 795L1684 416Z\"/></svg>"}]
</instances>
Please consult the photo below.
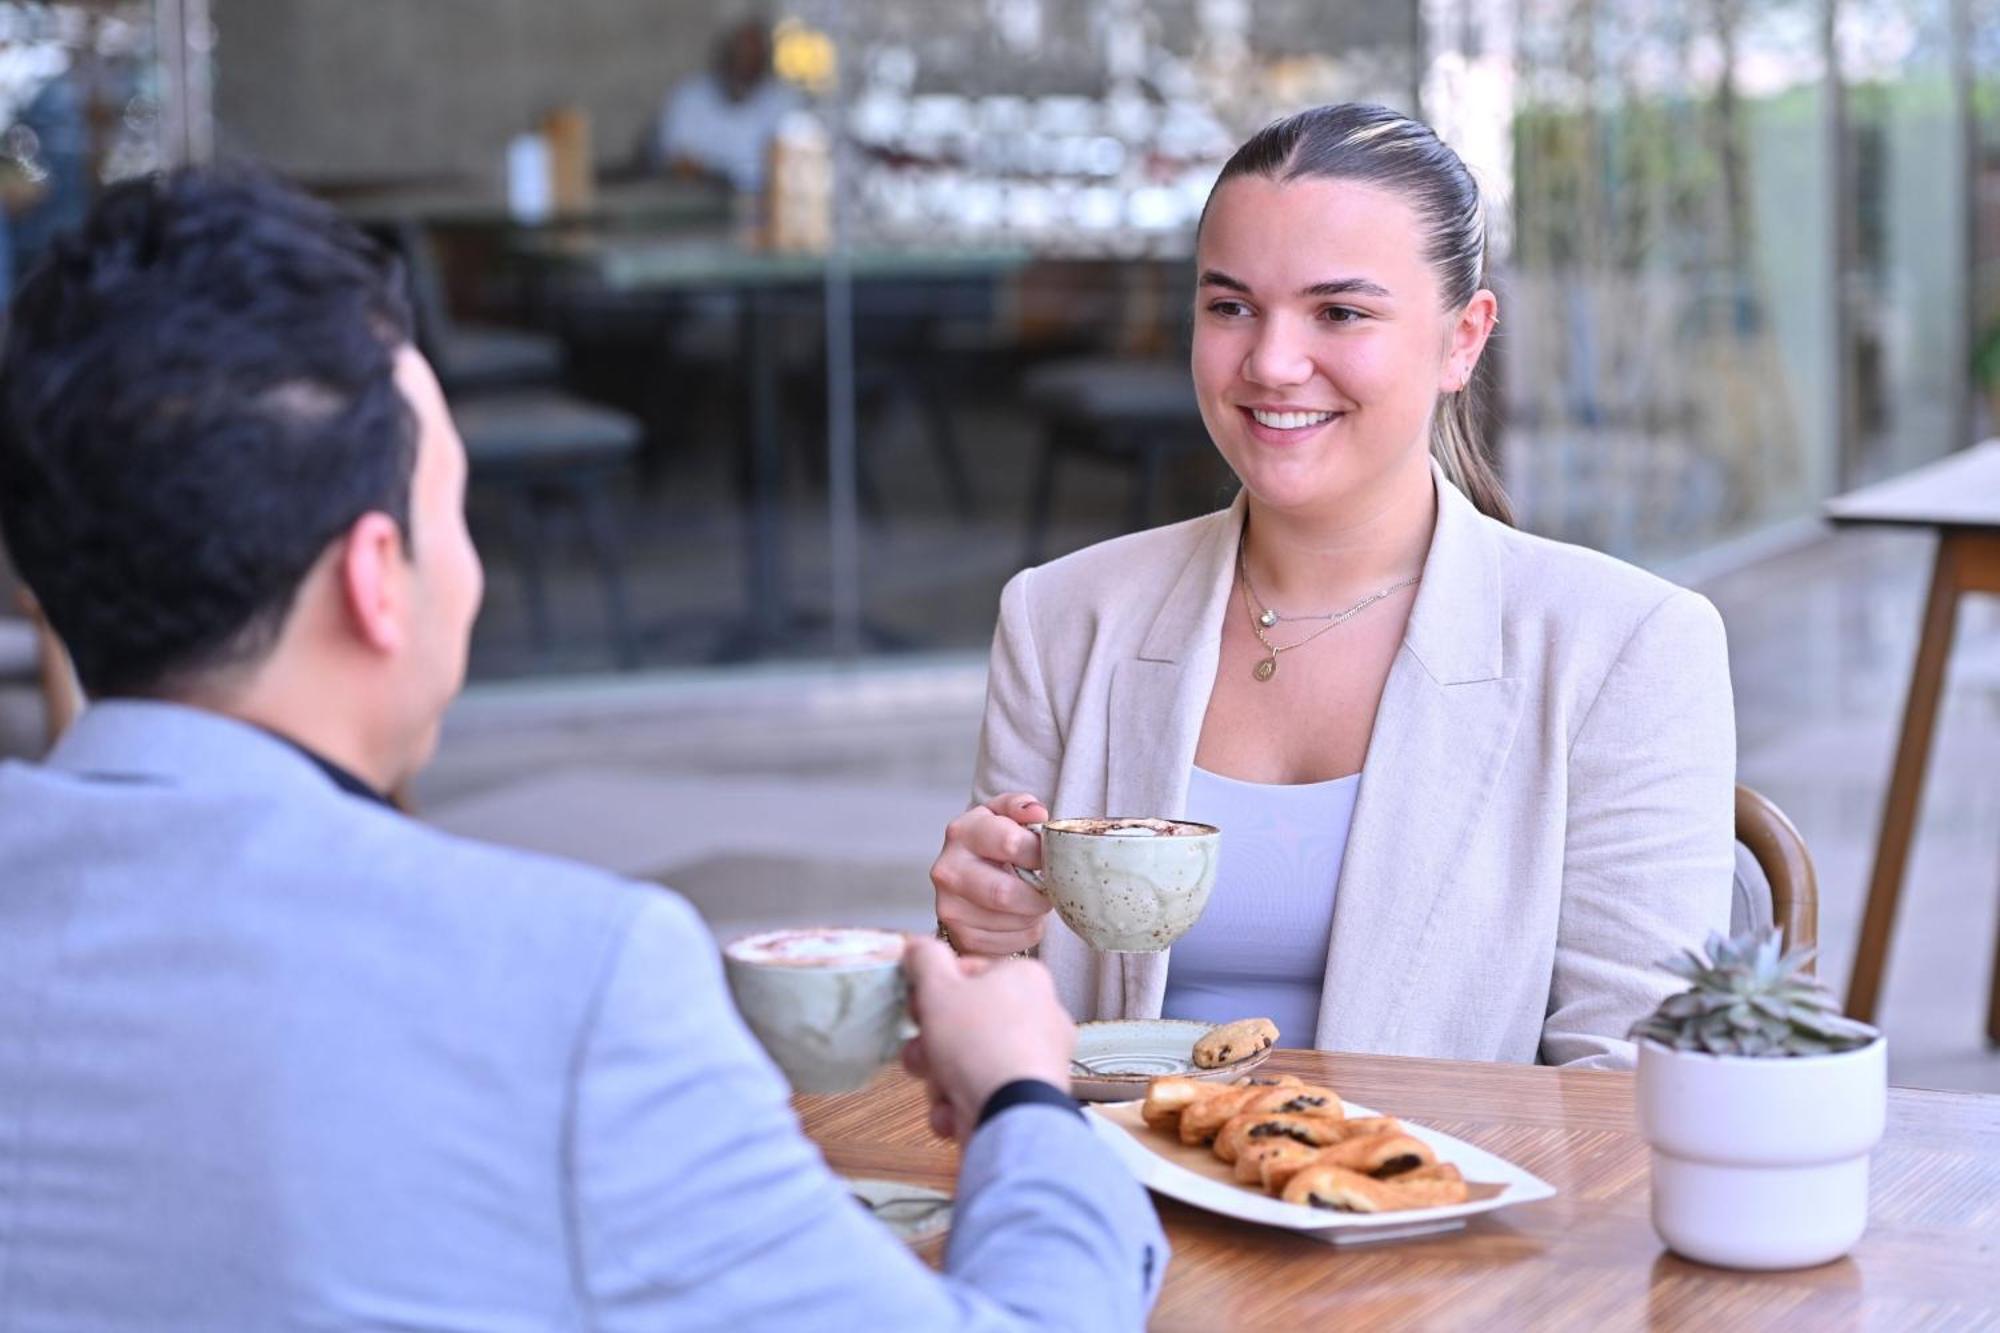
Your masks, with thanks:
<instances>
[{"instance_id":1,"label":"brown wooden table top under the pastries and succulent","mask_svg":"<svg viewBox=\"0 0 2000 1333\"><path fill-rule=\"evenodd\" d=\"M1156 1199L1174 1261L1154 1329L2000 1329L2000 1097L1892 1089L1856 1251L1730 1273L1652 1231L1632 1075L1320 1051L1276 1051L1266 1071L1478 1143L1560 1193L1348 1249ZM958 1153L902 1071L798 1109L836 1171L952 1187Z\"/></svg>"}]
</instances>

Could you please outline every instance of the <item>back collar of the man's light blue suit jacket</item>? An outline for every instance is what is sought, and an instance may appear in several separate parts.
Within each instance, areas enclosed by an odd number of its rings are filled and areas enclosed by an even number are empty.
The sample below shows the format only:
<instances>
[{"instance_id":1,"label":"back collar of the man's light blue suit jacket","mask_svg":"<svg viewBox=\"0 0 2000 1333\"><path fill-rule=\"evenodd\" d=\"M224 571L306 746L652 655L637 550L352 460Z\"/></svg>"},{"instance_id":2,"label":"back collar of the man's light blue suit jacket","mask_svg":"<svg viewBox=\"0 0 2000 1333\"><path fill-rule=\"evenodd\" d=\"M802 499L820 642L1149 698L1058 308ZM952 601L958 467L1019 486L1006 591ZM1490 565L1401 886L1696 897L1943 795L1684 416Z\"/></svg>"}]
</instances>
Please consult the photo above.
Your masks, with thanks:
<instances>
[{"instance_id":1,"label":"back collar of the man's light blue suit jacket","mask_svg":"<svg viewBox=\"0 0 2000 1333\"><path fill-rule=\"evenodd\" d=\"M48 757L80 777L214 791L336 795L302 747L262 727L150 699L92 703Z\"/></svg>"}]
</instances>

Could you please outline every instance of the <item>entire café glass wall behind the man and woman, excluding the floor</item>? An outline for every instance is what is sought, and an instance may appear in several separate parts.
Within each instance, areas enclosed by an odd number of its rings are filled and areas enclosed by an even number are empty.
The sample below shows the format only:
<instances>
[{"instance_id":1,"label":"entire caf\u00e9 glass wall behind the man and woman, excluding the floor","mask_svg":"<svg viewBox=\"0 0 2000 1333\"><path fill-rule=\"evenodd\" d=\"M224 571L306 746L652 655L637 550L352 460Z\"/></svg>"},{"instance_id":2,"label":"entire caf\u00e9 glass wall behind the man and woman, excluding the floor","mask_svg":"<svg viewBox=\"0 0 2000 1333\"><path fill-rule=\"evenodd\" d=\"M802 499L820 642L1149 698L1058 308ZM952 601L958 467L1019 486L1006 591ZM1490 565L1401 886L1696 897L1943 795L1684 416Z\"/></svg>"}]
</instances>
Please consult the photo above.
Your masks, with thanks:
<instances>
[{"instance_id":1,"label":"entire caf\u00e9 glass wall behind the man and woman, excluding the floor","mask_svg":"<svg viewBox=\"0 0 2000 1333\"><path fill-rule=\"evenodd\" d=\"M1326 100L1488 188L1534 530L1798 526L2000 382L1996 0L206 2L218 146L410 258L488 679L976 652L1022 564L1222 502L1192 226Z\"/></svg>"}]
</instances>

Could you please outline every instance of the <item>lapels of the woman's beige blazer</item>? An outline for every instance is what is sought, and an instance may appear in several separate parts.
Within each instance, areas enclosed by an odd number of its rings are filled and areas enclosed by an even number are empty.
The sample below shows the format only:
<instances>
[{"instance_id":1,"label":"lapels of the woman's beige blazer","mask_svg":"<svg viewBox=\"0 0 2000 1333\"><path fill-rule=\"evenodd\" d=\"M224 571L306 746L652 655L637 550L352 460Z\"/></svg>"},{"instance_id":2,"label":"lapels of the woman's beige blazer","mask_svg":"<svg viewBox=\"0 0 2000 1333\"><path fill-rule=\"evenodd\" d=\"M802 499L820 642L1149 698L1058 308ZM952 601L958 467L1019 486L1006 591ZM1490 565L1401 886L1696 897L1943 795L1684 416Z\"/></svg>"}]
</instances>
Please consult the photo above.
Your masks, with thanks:
<instances>
[{"instance_id":1,"label":"lapels of the woman's beige blazer","mask_svg":"<svg viewBox=\"0 0 2000 1333\"><path fill-rule=\"evenodd\" d=\"M1376 709L1334 899L1326 995L1342 1001L1320 1015L1314 1045L1324 1049L1394 1049L1404 973L1520 717L1520 683L1500 677L1502 552L1492 520L1436 464L1432 478L1438 514L1424 580ZM1112 673L1104 815L1186 813L1244 506L1238 494L1206 520L1138 654ZM1074 939L1056 949L1088 953ZM1096 1013L1128 1017L1158 1017L1166 971L1166 953L1098 955L1084 969Z\"/></svg>"}]
</instances>

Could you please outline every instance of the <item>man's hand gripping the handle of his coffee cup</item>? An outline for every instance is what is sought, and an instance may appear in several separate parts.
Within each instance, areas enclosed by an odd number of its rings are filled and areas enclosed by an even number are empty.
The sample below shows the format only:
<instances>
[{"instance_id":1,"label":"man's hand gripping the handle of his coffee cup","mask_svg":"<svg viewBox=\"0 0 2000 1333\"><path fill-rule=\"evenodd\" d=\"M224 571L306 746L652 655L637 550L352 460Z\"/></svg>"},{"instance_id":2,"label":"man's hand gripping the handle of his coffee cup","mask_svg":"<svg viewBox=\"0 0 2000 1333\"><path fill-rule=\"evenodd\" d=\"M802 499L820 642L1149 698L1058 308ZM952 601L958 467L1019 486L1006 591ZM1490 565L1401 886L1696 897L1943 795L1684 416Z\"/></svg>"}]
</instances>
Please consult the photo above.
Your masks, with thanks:
<instances>
[{"instance_id":1,"label":"man's hand gripping the handle of his coffee cup","mask_svg":"<svg viewBox=\"0 0 2000 1333\"><path fill-rule=\"evenodd\" d=\"M934 939L902 955L918 1035L902 1065L930 1085L930 1127L964 1141L980 1109L1016 1079L1070 1089L1076 1023L1048 969L1028 959L960 959Z\"/></svg>"}]
</instances>

